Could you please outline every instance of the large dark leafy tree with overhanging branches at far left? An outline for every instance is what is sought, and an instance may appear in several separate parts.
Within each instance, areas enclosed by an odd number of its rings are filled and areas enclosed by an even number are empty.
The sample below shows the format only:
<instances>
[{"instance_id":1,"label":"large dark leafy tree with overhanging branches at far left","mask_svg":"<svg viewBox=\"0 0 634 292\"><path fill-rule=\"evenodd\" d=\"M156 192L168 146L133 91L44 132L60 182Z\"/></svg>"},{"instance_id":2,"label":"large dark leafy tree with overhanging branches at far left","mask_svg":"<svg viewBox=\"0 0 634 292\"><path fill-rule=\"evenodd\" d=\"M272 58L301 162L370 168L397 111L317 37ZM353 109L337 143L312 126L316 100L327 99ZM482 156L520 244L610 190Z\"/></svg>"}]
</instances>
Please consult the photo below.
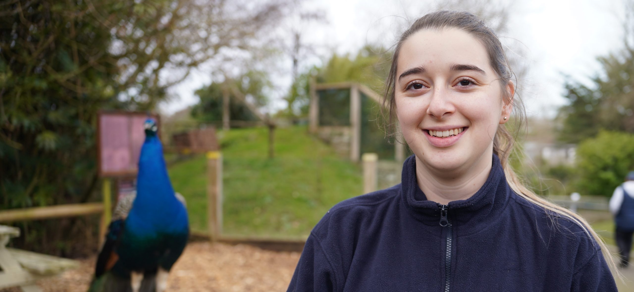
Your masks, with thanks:
<instances>
[{"instance_id":1,"label":"large dark leafy tree with overhanging branches at far left","mask_svg":"<svg viewBox=\"0 0 634 292\"><path fill-rule=\"evenodd\" d=\"M153 110L200 63L262 50L285 4L0 3L0 209L94 200L98 110ZM20 240L71 253L78 222L23 223Z\"/></svg>"}]
</instances>

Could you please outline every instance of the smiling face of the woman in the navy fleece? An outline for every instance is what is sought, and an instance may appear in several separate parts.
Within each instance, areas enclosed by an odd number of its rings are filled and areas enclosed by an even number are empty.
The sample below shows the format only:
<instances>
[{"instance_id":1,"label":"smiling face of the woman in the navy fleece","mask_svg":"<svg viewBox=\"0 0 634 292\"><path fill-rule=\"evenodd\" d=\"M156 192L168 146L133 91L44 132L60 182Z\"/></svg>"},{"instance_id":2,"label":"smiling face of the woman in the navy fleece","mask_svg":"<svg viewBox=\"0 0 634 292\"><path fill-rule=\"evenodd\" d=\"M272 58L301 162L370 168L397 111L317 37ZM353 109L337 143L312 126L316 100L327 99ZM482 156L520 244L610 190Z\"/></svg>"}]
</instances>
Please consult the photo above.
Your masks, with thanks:
<instances>
[{"instance_id":1,"label":"smiling face of the woman in the navy fleece","mask_svg":"<svg viewBox=\"0 0 634 292\"><path fill-rule=\"evenodd\" d=\"M424 166L451 172L490 161L510 106L484 46L462 30L421 30L403 43L397 62L396 113Z\"/></svg>"}]
</instances>

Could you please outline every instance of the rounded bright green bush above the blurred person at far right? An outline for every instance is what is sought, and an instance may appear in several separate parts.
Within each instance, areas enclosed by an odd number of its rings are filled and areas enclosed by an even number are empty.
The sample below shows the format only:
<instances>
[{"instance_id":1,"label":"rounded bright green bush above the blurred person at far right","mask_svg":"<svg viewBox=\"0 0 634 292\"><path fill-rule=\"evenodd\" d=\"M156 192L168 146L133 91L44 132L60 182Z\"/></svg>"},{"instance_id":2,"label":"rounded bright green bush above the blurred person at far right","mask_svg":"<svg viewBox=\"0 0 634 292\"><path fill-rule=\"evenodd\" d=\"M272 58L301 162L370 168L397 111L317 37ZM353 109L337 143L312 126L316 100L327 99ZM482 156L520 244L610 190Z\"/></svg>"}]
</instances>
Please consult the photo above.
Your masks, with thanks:
<instances>
[{"instance_id":1,"label":"rounded bright green bush above the blurred person at far right","mask_svg":"<svg viewBox=\"0 0 634 292\"><path fill-rule=\"evenodd\" d=\"M634 135L601 130L595 138L581 142L576 155L579 192L611 196L628 171L634 170Z\"/></svg>"}]
</instances>

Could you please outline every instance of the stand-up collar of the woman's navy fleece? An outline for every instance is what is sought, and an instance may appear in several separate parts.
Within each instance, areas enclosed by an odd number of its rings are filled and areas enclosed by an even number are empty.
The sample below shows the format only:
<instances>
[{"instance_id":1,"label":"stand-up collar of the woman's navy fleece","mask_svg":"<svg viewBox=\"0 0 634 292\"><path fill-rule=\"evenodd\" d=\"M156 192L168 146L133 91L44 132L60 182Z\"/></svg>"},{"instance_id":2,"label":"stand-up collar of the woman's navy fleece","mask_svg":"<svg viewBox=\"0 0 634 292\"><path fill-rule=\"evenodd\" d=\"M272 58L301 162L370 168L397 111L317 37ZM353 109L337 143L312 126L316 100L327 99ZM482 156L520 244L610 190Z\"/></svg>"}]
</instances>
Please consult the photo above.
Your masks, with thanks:
<instances>
[{"instance_id":1,"label":"stand-up collar of the woman's navy fleece","mask_svg":"<svg viewBox=\"0 0 634 292\"><path fill-rule=\"evenodd\" d=\"M512 190L508 186L498 156L493 154L493 164L484 185L469 199L449 202L448 218L462 234L472 234L499 220ZM430 226L440 226L440 207L427 200L418 187L416 157L408 157L401 174L403 204L415 218Z\"/></svg>"}]
</instances>

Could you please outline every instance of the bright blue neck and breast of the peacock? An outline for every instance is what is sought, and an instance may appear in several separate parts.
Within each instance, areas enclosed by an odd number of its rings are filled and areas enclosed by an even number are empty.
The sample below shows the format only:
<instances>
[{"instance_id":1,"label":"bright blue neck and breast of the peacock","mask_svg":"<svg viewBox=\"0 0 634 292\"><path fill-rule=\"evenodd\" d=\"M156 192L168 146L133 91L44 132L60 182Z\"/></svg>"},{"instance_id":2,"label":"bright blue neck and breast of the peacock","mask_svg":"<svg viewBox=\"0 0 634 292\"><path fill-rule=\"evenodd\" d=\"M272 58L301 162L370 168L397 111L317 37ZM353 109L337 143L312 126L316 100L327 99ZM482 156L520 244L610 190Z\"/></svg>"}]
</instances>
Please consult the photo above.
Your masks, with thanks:
<instances>
[{"instance_id":1,"label":"bright blue neck and breast of the peacock","mask_svg":"<svg viewBox=\"0 0 634 292\"><path fill-rule=\"evenodd\" d=\"M174 189L167 175L163 147L157 136L146 136L136 182L136 199L130 216L143 218L157 228L174 224L174 216L184 211L174 196ZM134 214L133 214L134 213Z\"/></svg>"}]
</instances>

